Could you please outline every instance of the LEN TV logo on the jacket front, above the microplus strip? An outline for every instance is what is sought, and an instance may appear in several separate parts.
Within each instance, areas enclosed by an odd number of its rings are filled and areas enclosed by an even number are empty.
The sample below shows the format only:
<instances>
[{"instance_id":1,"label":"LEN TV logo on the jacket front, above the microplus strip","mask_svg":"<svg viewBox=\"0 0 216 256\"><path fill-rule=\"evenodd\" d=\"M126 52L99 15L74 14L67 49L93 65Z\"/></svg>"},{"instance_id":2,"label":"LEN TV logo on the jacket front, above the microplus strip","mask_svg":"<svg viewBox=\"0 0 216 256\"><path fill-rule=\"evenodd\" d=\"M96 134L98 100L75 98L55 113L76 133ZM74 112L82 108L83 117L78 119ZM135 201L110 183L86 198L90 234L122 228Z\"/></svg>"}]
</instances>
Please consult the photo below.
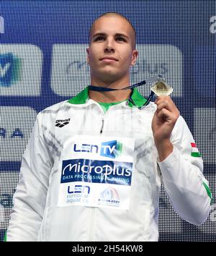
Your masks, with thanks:
<instances>
[{"instance_id":1,"label":"LEN TV logo on the jacket front, above the microplus strip","mask_svg":"<svg viewBox=\"0 0 216 256\"><path fill-rule=\"evenodd\" d=\"M117 140L102 142L100 146L92 144L77 145L74 143L73 152L97 153L107 158L117 158L122 154L122 143L117 142Z\"/></svg>"}]
</instances>

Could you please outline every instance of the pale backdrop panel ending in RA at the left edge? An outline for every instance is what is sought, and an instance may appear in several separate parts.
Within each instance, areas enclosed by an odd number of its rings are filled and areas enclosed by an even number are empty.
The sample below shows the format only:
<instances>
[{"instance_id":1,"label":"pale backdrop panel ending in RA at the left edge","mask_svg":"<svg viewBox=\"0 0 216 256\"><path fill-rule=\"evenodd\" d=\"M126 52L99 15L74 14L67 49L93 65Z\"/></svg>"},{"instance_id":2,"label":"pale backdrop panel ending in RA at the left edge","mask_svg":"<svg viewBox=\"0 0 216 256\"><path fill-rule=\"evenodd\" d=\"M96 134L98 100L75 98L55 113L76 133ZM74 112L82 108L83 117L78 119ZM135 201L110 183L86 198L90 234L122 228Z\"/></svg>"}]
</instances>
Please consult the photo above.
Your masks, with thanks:
<instances>
[{"instance_id":1,"label":"pale backdrop panel ending in RA at the left edge","mask_svg":"<svg viewBox=\"0 0 216 256\"><path fill-rule=\"evenodd\" d=\"M0 107L0 161L21 161L36 116L33 108Z\"/></svg>"}]
</instances>

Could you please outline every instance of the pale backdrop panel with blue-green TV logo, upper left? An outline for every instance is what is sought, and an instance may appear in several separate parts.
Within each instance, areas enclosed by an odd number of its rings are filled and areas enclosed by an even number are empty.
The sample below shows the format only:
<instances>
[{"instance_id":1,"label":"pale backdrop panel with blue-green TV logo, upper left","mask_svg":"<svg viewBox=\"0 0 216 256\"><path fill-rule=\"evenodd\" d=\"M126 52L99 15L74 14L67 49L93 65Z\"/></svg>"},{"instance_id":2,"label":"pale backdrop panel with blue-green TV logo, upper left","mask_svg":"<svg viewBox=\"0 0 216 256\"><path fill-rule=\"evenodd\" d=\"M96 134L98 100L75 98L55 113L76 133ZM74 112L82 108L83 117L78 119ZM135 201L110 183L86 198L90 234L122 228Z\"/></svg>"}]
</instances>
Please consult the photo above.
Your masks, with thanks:
<instances>
[{"instance_id":1,"label":"pale backdrop panel with blue-green TV logo, upper left","mask_svg":"<svg viewBox=\"0 0 216 256\"><path fill-rule=\"evenodd\" d=\"M40 95L42 52L30 44L0 44L0 95Z\"/></svg>"}]
</instances>

